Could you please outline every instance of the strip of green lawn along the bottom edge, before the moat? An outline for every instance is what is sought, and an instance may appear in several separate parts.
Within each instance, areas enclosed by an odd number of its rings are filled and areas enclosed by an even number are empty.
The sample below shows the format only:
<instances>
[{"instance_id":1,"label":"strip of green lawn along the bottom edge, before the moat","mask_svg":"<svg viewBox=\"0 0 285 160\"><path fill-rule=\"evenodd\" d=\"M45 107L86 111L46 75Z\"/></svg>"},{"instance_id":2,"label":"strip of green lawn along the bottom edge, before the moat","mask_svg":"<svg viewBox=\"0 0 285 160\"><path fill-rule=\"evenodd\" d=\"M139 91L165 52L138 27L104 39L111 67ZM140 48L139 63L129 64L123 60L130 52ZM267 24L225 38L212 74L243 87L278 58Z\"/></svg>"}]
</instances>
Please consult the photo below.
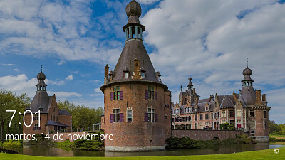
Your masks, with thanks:
<instances>
[{"instance_id":1,"label":"strip of green lawn along the bottom edge, before the moat","mask_svg":"<svg viewBox=\"0 0 285 160\"><path fill-rule=\"evenodd\" d=\"M105 157L41 157L41 156L26 156L17 154L0 154L0 159L285 159L285 147L279 148L279 154L274 154L274 149L266 149L261 151L247 151L237 154L212 154L212 155L202 155L202 156L140 156L140 157L115 157L115 158L105 158Z\"/></svg>"}]
</instances>

